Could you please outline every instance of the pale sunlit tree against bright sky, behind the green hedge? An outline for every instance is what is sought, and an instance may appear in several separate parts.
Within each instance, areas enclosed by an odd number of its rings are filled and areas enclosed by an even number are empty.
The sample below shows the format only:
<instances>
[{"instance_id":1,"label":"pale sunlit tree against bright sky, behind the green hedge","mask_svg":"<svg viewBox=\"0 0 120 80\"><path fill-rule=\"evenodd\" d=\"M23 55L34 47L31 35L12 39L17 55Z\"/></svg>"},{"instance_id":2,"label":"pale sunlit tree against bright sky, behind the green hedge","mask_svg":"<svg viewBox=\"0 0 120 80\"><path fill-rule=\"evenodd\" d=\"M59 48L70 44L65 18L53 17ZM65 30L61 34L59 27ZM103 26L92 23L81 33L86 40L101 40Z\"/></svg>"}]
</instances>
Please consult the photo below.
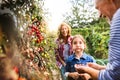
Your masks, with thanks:
<instances>
[{"instance_id":1,"label":"pale sunlit tree against bright sky, behind the green hedge","mask_svg":"<svg viewBox=\"0 0 120 80\"><path fill-rule=\"evenodd\" d=\"M66 13L64 17L73 28L89 26L89 23L97 19L93 0L71 0L70 2L71 12Z\"/></svg>"}]
</instances>

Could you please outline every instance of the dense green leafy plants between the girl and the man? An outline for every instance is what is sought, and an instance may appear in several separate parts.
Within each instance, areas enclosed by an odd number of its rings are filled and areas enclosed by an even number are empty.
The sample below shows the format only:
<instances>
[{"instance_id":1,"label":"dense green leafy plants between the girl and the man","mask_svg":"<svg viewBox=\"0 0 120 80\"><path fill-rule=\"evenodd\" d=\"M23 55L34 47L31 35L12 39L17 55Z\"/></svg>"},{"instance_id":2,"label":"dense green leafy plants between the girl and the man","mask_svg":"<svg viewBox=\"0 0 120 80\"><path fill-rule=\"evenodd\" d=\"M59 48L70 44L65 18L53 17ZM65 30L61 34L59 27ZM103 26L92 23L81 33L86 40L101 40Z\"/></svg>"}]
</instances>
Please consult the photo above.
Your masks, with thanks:
<instances>
[{"instance_id":1,"label":"dense green leafy plants between the girl and the man","mask_svg":"<svg viewBox=\"0 0 120 80\"><path fill-rule=\"evenodd\" d=\"M81 34L87 43L87 52L99 59L106 59L108 56L109 25L101 18L90 27L73 28L72 35Z\"/></svg>"}]
</instances>

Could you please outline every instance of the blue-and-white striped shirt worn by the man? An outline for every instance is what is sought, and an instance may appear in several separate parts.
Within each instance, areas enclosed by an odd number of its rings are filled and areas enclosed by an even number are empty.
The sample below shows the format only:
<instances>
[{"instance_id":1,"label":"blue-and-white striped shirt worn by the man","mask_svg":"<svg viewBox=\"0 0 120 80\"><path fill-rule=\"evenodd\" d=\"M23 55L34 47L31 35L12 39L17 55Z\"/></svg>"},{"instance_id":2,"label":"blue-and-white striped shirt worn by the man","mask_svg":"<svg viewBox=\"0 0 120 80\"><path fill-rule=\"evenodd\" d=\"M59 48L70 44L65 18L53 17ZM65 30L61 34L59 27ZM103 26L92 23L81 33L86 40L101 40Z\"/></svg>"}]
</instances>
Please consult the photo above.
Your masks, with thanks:
<instances>
[{"instance_id":1,"label":"blue-and-white striped shirt worn by the man","mask_svg":"<svg viewBox=\"0 0 120 80\"><path fill-rule=\"evenodd\" d=\"M99 73L99 80L120 80L120 8L111 21L109 58L105 70Z\"/></svg>"}]
</instances>

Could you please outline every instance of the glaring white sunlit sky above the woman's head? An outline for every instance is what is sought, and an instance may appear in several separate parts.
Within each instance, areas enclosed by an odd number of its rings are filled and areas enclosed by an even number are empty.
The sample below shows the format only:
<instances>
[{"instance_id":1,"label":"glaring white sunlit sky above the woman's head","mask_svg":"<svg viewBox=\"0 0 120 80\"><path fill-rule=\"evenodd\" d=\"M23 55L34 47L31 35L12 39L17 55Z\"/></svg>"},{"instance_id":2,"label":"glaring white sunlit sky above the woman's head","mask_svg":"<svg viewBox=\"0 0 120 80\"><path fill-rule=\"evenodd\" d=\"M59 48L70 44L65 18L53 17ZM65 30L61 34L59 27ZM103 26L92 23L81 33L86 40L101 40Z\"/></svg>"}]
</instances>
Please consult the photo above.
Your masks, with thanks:
<instances>
[{"instance_id":1,"label":"glaring white sunlit sky above the woman's head","mask_svg":"<svg viewBox=\"0 0 120 80\"><path fill-rule=\"evenodd\" d=\"M63 21L63 14L70 10L69 0L46 0L45 8L49 9L50 20L48 26L50 31L56 31L58 25Z\"/></svg>"}]
</instances>

